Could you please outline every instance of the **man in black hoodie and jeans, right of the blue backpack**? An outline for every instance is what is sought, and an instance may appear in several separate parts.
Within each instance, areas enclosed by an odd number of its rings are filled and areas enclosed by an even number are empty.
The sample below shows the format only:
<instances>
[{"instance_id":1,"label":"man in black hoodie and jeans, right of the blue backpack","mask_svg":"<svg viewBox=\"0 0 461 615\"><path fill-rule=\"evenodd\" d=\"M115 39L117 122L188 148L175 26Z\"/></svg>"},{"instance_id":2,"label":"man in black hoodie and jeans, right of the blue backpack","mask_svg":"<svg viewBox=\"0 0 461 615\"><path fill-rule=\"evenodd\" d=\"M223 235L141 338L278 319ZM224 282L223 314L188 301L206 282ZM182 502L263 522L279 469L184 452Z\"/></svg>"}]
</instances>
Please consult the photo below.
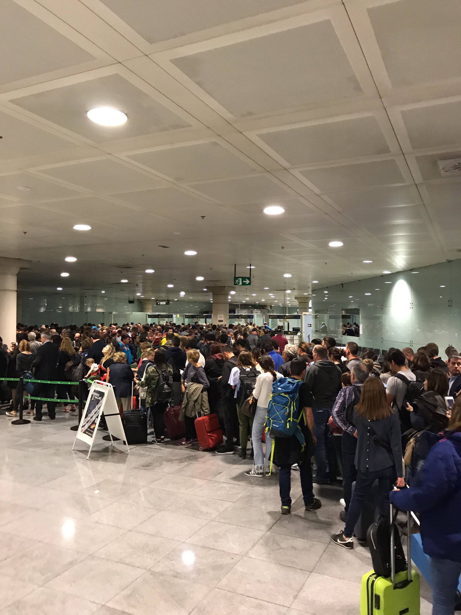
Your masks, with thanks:
<instances>
[{"instance_id":1,"label":"man in black hoodie and jeans, right of the blue backpack","mask_svg":"<svg viewBox=\"0 0 461 615\"><path fill-rule=\"evenodd\" d=\"M313 347L312 354L314 363L306 370L304 382L310 391L310 407L317 438L317 448L314 453L317 474L313 482L328 485L336 482L336 453L333 442L330 442L332 438L328 438L328 420L337 394L341 390L341 370L328 360L328 348L325 346L317 344Z\"/></svg>"}]
</instances>

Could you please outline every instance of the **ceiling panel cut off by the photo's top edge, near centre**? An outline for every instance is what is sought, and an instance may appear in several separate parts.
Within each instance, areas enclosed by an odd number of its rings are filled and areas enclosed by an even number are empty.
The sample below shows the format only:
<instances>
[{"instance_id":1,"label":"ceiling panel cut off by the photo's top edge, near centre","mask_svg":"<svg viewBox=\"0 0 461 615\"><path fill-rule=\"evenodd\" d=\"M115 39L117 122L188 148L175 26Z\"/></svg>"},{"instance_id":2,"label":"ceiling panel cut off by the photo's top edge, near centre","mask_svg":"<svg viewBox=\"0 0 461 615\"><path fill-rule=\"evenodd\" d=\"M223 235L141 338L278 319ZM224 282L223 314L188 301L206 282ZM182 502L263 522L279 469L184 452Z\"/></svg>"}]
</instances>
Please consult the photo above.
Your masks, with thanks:
<instances>
[{"instance_id":1,"label":"ceiling panel cut off by the photo's top edge, near centre","mask_svg":"<svg viewBox=\"0 0 461 615\"><path fill-rule=\"evenodd\" d=\"M305 0L101 0L148 42L164 41L221 23L235 22L270 10L296 6Z\"/></svg>"}]
</instances>

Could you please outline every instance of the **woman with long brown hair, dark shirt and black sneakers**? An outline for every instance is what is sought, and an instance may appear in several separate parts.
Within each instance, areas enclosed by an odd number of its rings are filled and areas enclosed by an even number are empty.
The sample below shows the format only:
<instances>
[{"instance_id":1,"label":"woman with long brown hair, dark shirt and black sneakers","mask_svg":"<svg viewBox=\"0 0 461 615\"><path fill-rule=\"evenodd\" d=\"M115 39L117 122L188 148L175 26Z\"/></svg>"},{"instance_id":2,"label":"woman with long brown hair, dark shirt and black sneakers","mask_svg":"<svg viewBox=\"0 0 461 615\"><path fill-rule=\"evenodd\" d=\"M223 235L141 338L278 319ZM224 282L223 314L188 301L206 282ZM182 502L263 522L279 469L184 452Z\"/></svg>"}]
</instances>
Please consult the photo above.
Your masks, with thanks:
<instances>
[{"instance_id":1,"label":"woman with long brown hair, dark shirt and black sneakers","mask_svg":"<svg viewBox=\"0 0 461 615\"><path fill-rule=\"evenodd\" d=\"M353 549L352 534L364 498L373 483L379 482L379 514L388 515L389 492L396 485L403 487L403 459L400 422L398 415L387 403L384 386L379 378L367 378L363 384L360 401L354 408L350 422L357 427L358 438L356 466L357 480L347 511L344 531L331 536L333 542L346 549Z\"/></svg>"}]
</instances>

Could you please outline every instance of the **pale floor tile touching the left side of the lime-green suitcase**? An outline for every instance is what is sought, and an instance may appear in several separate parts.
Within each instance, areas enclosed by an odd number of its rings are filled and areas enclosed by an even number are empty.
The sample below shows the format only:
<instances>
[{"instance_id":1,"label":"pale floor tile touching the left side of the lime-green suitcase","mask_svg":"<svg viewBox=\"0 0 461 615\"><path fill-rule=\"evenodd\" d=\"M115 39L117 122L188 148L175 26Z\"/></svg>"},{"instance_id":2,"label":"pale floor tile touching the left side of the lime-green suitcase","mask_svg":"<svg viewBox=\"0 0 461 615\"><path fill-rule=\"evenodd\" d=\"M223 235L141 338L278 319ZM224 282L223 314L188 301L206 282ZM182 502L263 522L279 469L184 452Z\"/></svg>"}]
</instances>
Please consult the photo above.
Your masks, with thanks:
<instances>
[{"instance_id":1,"label":"pale floor tile touching the left side of the lime-green suitcase","mask_svg":"<svg viewBox=\"0 0 461 615\"><path fill-rule=\"evenodd\" d=\"M360 582L344 581L323 574L310 573L291 608L307 610L312 615L357 615L360 611Z\"/></svg>"}]
</instances>

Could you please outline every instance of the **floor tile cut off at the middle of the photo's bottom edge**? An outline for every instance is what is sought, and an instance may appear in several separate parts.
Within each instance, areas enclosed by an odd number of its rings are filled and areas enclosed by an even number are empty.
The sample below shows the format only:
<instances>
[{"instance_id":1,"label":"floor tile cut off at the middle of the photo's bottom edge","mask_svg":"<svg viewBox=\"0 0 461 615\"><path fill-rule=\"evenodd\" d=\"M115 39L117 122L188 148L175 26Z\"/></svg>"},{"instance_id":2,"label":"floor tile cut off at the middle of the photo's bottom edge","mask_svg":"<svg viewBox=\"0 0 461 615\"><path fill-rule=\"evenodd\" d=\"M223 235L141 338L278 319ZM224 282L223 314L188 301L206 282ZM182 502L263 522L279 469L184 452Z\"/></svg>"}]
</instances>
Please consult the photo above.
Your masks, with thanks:
<instances>
[{"instance_id":1,"label":"floor tile cut off at the middle of the photo's bottom edge","mask_svg":"<svg viewBox=\"0 0 461 615\"><path fill-rule=\"evenodd\" d=\"M226 592L223 589L213 589L195 607L191 615L285 615L285 613L285 606L256 600L239 593Z\"/></svg>"}]
</instances>

